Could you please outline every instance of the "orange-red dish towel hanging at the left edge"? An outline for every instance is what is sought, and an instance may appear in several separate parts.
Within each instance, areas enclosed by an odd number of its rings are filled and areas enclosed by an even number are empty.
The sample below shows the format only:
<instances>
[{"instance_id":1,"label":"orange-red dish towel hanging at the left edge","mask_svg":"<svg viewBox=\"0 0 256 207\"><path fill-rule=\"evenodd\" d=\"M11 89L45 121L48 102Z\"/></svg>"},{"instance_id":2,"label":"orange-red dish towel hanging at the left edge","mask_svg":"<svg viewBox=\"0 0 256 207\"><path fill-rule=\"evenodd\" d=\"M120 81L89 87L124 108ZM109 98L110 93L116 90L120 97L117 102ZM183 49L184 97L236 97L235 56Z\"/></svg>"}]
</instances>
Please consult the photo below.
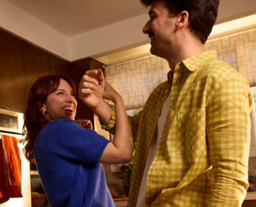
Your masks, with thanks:
<instances>
[{"instance_id":1,"label":"orange-red dish towel hanging at the left edge","mask_svg":"<svg viewBox=\"0 0 256 207\"><path fill-rule=\"evenodd\" d=\"M0 198L22 197L21 160L17 139L1 134L0 139Z\"/></svg>"}]
</instances>

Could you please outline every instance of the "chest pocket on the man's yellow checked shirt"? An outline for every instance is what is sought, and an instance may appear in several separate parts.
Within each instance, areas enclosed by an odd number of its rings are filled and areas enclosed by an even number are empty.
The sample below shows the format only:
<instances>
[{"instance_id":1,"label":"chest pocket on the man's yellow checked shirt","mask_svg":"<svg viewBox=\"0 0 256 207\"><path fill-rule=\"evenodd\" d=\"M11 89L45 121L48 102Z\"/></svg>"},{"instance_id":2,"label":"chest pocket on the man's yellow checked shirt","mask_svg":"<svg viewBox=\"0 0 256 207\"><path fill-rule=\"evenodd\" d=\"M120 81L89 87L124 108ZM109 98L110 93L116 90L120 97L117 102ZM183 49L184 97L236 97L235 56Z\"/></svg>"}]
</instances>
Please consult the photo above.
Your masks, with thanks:
<instances>
[{"instance_id":1,"label":"chest pocket on the man's yellow checked shirt","mask_svg":"<svg viewBox=\"0 0 256 207\"><path fill-rule=\"evenodd\" d=\"M191 109L177 114L176 153L197 157L206 153L205 109Z\"/></svg>"}]
</instances>

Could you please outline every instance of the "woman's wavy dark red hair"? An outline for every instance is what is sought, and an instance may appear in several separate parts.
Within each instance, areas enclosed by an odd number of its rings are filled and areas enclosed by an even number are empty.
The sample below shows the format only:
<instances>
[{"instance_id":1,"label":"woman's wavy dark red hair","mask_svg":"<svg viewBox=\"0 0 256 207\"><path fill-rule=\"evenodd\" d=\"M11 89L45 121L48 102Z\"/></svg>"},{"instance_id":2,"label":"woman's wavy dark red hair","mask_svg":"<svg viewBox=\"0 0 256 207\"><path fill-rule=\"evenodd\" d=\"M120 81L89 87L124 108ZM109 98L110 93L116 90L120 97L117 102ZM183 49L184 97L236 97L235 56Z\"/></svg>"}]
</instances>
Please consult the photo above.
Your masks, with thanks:
<instances>
[{"instance_id":1,"label":"woman's wavy dark red hair","mask_svg":"<svg viewBox=\"0 0 256 207\"><path fill-rule=\"evenodd\" d=\"M27 108L24 111L24 125L22 130L22 149L24 156L29 162L34 162L34 144L40 129L49 121L44 119L41 108L45 104L47 97L60 86L60 80L68 82L76 93L76 85L65 75L47 75L40 77L31 87L28 95Z\"/></svg>"}]
</instances>

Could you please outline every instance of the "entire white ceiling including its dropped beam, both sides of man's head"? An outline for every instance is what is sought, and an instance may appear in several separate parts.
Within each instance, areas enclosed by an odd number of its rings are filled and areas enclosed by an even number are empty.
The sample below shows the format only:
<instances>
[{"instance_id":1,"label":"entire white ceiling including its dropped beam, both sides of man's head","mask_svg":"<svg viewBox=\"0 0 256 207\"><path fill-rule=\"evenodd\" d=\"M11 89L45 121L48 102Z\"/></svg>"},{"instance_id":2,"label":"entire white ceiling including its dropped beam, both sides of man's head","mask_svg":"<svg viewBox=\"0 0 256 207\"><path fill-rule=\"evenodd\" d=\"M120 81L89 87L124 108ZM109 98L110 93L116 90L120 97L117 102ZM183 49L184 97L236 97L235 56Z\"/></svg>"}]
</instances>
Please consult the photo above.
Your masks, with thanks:
<instances>
[{"instance_id":1,"label":"entire white ceiling including its dropped beam, both sides of man's head","mask_svg":"<svg viewBox=\"0 0 256 207\"><path fill-rule=\"evenodd\" d=\"M255 1L220 0L216 25L256 14ZM147 12L139 0L0 0L0 28L67 61L97 59L149 43Z\"/></svg>"}]
</instances>

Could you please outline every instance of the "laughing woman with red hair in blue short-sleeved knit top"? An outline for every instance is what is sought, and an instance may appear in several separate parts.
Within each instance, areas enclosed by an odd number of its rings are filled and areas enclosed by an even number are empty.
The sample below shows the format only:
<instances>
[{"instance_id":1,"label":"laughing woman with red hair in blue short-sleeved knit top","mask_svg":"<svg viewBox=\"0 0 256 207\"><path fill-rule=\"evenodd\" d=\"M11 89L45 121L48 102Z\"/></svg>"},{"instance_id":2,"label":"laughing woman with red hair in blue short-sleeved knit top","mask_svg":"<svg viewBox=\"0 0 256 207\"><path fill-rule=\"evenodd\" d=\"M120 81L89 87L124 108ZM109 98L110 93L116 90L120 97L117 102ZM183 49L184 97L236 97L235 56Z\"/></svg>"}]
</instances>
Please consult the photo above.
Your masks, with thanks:
<instances>
[{"instance_id":1,"label":"laughing woman with red hair in blue short-sleeved knit top","mask_svg":"<svg viewBox=\"0 0 256 207\"><path fill-rule=\"evenodd\" d=\"M124 102L106 83L104 97L116 105L113 143L97 134L87 121L74 121L74 82L62 75L40 77L29 91L24 112L25 157L35 162L51 207L115 206L102 163L132 160L132 138ZM82 126L84 127L82 127Z\"/></svg>"}]
</instances>

